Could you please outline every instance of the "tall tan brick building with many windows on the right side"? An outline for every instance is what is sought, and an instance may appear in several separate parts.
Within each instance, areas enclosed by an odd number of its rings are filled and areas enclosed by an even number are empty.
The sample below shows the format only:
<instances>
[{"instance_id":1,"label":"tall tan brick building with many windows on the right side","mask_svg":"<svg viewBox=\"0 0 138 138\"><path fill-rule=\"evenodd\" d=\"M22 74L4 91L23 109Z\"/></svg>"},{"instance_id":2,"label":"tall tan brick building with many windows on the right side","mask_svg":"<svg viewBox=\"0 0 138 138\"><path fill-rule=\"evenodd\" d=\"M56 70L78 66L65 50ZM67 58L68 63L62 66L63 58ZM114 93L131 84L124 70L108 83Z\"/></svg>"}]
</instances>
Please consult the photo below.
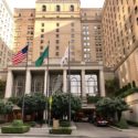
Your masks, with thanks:
<instances>
[{"instance_id":1,"label":"tall tan brick building with many windows on the right side","mask_svg":"<svg viewBox=\"0 0 138 138\"><path fill-rule=\"evenodd\" d=\"M120 87L138 85L137 6L137 0L105 0L102 12L104 64L114 68Z\"/></svg>"}]
</instances>

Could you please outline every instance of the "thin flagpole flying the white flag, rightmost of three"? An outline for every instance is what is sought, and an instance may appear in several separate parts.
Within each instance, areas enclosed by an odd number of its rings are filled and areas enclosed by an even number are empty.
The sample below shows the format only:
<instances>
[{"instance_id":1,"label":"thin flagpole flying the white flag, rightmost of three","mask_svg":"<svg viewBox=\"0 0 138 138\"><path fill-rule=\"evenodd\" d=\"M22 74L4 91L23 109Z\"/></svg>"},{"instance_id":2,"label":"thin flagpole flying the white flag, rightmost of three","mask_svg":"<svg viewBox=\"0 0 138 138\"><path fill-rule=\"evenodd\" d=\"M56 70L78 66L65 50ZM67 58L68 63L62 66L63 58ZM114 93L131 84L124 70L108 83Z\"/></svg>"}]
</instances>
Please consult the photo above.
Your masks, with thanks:
<instances>
[{"instance_id":1,"label":"thin flagpole flying the white flag, rightmost of three","mask_svg":"<svg viewBox=\"0 0 138 138\"><path fill-rule=\"evenodd\" d=\"M71 59L71 47L70 47L70 41L68 41L68 121L71 125L71 63L70 63L70 59Z\"/></svg>"}]
</instances>

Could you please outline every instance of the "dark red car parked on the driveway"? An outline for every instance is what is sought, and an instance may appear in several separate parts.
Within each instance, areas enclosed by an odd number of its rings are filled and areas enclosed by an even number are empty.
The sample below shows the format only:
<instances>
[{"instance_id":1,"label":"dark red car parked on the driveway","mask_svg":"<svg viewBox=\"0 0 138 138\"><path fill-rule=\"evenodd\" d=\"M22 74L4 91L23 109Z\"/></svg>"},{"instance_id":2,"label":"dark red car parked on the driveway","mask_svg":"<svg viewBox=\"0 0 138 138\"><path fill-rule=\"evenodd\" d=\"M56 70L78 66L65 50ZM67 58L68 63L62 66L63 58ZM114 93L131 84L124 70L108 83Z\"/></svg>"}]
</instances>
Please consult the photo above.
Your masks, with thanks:
<instances>
[{"instance_id":1,"label":"dark red car parked on the driveway","mask_svg":"<svg viewBox=\"0 0 138 138\"><path fill-rule=\"evenodd\" d=\"M104 126L108 126L108 120L103 118L103 117L100 117L100 118L96 118L94 124L96 126L103 126L104 127Z\"/></svg>"}]
</instances>

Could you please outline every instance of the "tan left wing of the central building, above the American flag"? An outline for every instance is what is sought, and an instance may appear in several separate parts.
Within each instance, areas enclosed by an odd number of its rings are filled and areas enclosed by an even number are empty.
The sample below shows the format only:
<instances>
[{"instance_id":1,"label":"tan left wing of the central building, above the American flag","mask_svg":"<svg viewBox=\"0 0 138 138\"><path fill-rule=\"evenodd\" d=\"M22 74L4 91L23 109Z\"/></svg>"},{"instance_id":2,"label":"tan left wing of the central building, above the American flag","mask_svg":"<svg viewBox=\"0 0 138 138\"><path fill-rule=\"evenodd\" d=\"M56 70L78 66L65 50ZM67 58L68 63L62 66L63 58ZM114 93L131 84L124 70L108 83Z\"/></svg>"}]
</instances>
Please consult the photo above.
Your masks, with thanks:
<instances>
[{"instance_id":1,"label":"tan left wing of the central building, above the American flag","mask_svg":"<svg viewBox=\"0 0 138 138\"><path fill-rule=\"evenodd\" d=\"M22 46L29 43L33 45L34 35L34 9L14 9L14 34L13 34L13 52L17 53ZM32 49L30 49L29 60L32 56Z\"/></svg>"}]
</instances>

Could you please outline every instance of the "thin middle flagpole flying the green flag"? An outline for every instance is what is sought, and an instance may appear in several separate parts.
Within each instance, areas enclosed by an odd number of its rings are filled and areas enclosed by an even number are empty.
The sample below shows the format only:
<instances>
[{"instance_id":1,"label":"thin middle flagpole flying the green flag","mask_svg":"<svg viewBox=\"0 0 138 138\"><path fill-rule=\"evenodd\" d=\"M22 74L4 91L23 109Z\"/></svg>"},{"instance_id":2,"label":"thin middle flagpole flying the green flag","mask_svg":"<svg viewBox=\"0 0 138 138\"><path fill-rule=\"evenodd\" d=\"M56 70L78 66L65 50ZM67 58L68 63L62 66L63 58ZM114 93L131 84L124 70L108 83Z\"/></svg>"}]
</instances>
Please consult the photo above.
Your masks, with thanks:
<instances>
[{"instance_id":1,"label":"thin middle flagpole flying the green flag","mask_svg":"<svg viewBox=\"0 0 138 138\"><path fill-rule=\"evenodd\" d=\"M49 50L50 50L50 41L47 42L47 46L49 46ZM49 52L50 54L50 52ZM49 54L47 54L47 65L46 65L46 99L49 98ZM46 104L45 104L45 121L49 119L49 100L46 100ZM47 121L47 125L50 123Z\"/></svg>"}]
</instances>

